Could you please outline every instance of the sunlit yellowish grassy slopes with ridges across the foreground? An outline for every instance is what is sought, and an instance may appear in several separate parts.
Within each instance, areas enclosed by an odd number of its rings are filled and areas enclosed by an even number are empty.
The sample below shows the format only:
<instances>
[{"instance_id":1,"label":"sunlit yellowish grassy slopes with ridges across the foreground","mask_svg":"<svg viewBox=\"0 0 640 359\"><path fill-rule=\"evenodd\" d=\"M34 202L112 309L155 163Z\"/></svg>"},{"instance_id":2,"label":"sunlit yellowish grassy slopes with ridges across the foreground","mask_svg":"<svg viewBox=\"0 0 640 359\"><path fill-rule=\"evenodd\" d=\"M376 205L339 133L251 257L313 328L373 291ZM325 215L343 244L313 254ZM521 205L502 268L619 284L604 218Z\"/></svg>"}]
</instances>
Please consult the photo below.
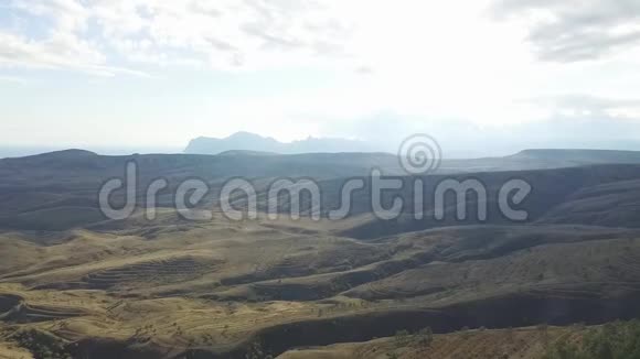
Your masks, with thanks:
<instances>
[{"instance_id":1,"label":"sunlit yellowish grassy slopes with ridges across the foreground","mask_svg":"<svg viewBox=\"0 0 640 359\"><path fill-rule=\"evenodd\" d=\"M349 333L366 340L407 324L447 333L469 322L465 313L473 317L493 301L498 307L524 303L516 297L523 293L533 309L510 314L522 324L598 322L590 313L548 316L535 305L595 297L612 303L607 311L616 315L616 305L626 304L608 293L633 295L640 282L640 236L623 229L483 226L375 242L333 237L332 228L305 221L181 228L167 219L152 239L142 236L147 230L4 235L21 246L1 253L0 293L25 303L4 320L72 341L129 340L162 352L212 355L235 352L252 338L280 342L295 328L316 334L289 336L291 346L349 340ZM419 314L426 308L436 312ZM396 319L405 315L397 311L419 320ZM523 319L532 313L537 317ZM369 327L381 330L363 330ZM274 352L290 348L284 341Z\"/></svg>"}]
</instances>

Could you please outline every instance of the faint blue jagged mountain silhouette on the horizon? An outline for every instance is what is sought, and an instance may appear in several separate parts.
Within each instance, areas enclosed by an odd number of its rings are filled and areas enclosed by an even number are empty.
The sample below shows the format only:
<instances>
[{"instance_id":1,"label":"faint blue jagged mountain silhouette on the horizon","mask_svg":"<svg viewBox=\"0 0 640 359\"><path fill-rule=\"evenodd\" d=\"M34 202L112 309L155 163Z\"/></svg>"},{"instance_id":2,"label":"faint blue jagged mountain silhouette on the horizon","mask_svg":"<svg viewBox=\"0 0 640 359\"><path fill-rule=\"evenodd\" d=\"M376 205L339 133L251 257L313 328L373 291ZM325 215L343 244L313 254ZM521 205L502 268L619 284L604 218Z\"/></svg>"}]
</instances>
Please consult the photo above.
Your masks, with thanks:
<instances>
[{"instance_id":1,"label":"faint blue jagged mountain silhouette on the horizon","mask_svg":"<svg viewBox=\"0 0 640 359\"><path fill-rule=\"evenodd\" d=\"M317 139L289 143L279 142L273 138L262 137L250 132L236 132L224 139L201 137L189 142L184 153L218 154L227 151L270 152L281 154L311 152L375 152L373 145L363 141L346 139Z\"/></svg>"}]
</instances>

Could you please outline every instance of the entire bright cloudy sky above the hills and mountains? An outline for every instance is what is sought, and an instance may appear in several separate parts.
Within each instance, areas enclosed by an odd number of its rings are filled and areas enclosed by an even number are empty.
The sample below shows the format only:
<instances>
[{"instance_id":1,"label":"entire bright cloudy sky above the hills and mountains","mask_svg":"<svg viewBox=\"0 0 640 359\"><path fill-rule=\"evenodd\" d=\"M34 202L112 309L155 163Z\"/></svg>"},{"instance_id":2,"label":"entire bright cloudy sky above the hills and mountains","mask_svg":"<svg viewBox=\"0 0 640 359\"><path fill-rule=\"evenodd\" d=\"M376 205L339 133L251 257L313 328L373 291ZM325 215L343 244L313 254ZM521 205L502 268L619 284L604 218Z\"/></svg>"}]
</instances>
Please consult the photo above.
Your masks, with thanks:
<instances>
[{"instance_id":1,"label":"entire bright cloudy sky above the hills and mountains","mask_svg":"<svg viewBox=\"0 0 640 359\"><path fill-rule=\"evenodd\" d=\"M640 1L0 0L0 117L4 146L640 150Z\"/></svg>"}]
</instances>

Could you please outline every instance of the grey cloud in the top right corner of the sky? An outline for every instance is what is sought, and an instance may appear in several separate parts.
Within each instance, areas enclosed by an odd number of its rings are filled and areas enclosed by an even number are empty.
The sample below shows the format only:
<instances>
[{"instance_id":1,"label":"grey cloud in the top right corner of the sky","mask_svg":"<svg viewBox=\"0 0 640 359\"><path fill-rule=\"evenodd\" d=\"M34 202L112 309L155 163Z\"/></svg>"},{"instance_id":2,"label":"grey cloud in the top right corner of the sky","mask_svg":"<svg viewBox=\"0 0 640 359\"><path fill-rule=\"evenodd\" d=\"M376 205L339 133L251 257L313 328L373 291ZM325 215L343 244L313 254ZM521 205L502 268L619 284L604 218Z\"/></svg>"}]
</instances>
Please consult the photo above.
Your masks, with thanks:
<instances>
[{"instance_id":1,"label":"grey cloud in the top right corner of the sky","mask_svg":"<svg viewBox=\"0 0 640 359\"><path fill-rule=\"evenodd\" d=\"M640 45L637 0L499 0L491 10L495 18L524 21L543 61L598 59Z\"/></svg>"}]
</instances>

